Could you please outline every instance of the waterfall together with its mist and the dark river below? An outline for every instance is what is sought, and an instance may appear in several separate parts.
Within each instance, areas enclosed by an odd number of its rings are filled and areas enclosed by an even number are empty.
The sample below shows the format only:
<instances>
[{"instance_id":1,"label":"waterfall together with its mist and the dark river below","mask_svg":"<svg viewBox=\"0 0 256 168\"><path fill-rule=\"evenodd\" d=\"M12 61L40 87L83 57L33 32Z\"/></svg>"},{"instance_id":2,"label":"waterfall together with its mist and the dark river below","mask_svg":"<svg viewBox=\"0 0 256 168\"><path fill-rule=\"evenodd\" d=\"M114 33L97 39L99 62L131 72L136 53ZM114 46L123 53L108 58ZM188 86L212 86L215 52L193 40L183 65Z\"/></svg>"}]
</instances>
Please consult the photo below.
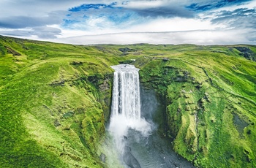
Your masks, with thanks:
<instances>
[{"instance_id":1,"label":"waterfall together with its mist and the dark river below","mask_svg":"<svg viewBox=\"0 0 256 168\"><path fill-rule=\"evenodd\" d=\"M140 95L140 69L128 64L111 67L115 70L111 115L103 145L108 167L192 167L157 134L152 114L159 104L154 91L142 89Z\"/></svg>"}]
</instances>

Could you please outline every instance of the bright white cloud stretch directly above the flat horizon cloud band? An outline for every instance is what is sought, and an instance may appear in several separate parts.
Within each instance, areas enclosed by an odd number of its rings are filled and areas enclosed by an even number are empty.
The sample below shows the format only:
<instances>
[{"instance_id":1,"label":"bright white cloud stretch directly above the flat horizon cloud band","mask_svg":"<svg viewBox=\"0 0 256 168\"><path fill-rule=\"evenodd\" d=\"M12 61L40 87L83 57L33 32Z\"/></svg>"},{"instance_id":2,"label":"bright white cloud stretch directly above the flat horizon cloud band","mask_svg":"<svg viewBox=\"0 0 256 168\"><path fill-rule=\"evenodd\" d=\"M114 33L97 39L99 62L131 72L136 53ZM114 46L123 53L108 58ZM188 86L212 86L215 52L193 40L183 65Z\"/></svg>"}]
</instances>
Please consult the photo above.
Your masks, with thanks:
<instances>
[{"instance_id":1,"label":"bright white cloud stretch directly above the flat horizon cloud band","mask_svg":"<svg viewBox=\"0 0 256 168\"><path fill-rule=\"evenodd\" d=\"M97 24L102 24L104 28L99 28ZM79 30L75 29L69 30L65 28L61 28L63 37L70 37L68 34L73 34L74 36L83 35L97 35L97 34L115 34L115 33L123 33L123 32L161 32L161 31L197 31L197 30L214 30L219 28L218 26L214 26L211 24L210 20L199 20L199 19L187 19L187 18L159 18L148 21L148 23L137 24L134 26L127 26L126 28L118 28L117 26L113 26L111 22L108 20L104 20L102 18L91 19L87 24L86 23L78 23L77 26ZM83 26L90 26L91 30L82 31L81 28ZM60 28L60 27L59 27Z\"/></svg>"}]
</instances>

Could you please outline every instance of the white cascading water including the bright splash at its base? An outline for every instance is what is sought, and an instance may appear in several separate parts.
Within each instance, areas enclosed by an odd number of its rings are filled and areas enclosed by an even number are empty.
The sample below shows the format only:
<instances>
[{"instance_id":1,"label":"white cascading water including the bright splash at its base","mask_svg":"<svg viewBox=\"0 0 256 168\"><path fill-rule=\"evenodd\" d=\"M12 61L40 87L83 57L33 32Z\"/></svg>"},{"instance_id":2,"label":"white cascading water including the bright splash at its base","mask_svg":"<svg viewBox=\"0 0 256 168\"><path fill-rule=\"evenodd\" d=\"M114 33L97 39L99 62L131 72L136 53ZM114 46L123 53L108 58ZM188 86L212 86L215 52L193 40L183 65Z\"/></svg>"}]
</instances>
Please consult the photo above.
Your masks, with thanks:
<instances>
[{"instance_id":1,"label":"white cascading water including the bright splash at its base","mask_svg":"<svg viewBox=\"0 0 256 168\"><path fill-rule=\"evenodd\" d=\"M147 136L150 124L140 118L140 81L138 71L133 65L111 66L115 69L109 131L112 132L118 150L124 150L124 137L128 129L140 131Z\"/></svg>"}]
</instances>

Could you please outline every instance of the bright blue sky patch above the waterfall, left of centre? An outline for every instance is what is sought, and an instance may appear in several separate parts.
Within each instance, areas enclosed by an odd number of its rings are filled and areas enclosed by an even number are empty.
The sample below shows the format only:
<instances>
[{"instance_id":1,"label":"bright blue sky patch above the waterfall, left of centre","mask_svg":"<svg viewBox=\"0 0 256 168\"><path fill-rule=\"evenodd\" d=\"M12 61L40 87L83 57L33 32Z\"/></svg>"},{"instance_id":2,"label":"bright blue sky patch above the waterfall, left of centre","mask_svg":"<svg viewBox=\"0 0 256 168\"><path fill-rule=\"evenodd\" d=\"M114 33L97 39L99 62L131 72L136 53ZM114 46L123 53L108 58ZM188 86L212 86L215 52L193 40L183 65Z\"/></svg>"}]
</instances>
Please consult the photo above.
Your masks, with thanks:
<instances>
[{"instance_id":1,"label":"bright blue sky patch above the waterfall, left of centre","mask_svg":"<svg viewBox=\"0 0 256 168\"><path fill-rule=\"evenodd\" d=\"M64 28L77 28L80 23L80 28L83 30L93 29L94 26L99 28L105 27L105 23L111 24L119 28L129 26L129 23L139 22L140 16L130 10L122 7L115 7L116 2L112 4L83 4L79 7L69 9L67 18L63 20L61 26ZM91 20L97 19L97 22L92 23Z\"/></svg>"}]
</instances>

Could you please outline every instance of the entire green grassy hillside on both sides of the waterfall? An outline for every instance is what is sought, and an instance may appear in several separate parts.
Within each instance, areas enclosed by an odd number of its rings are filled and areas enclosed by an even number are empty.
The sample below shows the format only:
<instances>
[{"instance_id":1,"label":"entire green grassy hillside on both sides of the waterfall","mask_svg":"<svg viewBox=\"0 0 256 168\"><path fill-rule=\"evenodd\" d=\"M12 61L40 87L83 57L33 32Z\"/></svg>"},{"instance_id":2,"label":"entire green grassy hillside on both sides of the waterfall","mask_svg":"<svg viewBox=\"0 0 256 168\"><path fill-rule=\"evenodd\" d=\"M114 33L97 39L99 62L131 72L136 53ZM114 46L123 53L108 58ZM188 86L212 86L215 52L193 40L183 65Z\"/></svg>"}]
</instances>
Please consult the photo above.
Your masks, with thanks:
<instances>
[{"instance_id":1,"label":"entire green grassy hillside on both sides of the waterfall","mask_svg":"<svg viewBox=\"0 0 256 168\"><path fill-rule=\"evenodd\" d=\"M256 167L255 58L253 45L0 37L0 165L103 167L97 144L110 115L110 65L127 63L165 99L165 134L177 153L197 167Z\"/></svg>"}]
</instances>

